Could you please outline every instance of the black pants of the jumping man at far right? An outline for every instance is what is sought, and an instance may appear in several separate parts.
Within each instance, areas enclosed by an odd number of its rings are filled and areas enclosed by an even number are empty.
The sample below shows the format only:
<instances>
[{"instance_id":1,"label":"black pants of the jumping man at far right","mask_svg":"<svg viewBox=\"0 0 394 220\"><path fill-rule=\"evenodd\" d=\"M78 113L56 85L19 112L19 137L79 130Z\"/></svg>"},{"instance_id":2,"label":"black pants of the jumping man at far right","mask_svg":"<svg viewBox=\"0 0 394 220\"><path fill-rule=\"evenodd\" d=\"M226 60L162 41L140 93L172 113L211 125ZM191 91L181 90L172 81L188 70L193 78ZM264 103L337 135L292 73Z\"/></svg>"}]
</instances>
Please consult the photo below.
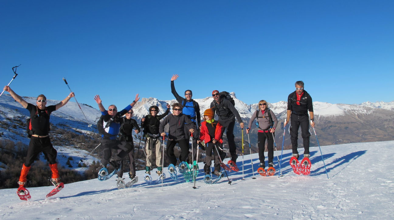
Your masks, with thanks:
<instances>
[{"instance_id":1,"label":"black pants of the jumping man at far right","mask_svg":"<svg viewBox=\"0 0 394 220\"><path fill-rule=\"evenodd\" d=\"M301 136L304 141L304 154L309 154L309 116L297 116L292 114L290 117L290 139L292 141L293 154L298 154L298 128L301 126Z\"/></svg>"}]
</instances>

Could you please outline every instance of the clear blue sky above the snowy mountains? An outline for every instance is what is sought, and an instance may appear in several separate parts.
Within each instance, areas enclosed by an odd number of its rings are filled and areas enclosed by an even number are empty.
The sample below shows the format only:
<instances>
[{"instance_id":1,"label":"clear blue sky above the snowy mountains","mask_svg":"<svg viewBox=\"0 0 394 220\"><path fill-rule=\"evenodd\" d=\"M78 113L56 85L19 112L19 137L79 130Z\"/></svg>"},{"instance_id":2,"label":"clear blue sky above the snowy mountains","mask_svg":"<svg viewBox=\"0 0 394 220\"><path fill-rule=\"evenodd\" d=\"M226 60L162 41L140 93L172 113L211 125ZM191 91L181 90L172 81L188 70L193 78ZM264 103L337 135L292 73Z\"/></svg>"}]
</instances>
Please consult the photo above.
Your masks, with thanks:
<instances>
[{"instance_id":1,"label":"clear blue sky above the snowy mountains","mask_svg":"<svg viewBox=\"0 0 394 220\"><path fill-rule=\"evenodd\" d=\"M394 1L0 2L0 82L22 96L69 94L97 108L135 94L235 92L285 101L303 80L314 101L394 100ZM8 94L8 93L6 93Z\"/></svg>"}]
</instances>

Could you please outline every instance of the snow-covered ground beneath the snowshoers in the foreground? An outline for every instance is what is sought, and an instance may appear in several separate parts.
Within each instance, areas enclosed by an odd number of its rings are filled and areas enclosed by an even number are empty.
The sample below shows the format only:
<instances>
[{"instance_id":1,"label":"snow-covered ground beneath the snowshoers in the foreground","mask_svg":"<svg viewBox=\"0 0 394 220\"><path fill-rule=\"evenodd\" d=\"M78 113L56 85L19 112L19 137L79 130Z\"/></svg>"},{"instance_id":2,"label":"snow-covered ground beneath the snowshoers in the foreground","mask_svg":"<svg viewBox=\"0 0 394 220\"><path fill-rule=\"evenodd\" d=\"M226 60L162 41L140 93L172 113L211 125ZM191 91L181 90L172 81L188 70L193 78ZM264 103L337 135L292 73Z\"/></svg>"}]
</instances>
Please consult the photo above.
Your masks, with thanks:
<instances>
[{"instance_id":1,"label":"snow-covered ground beneath the snowshoers in the foreground","mask_svg":"<svg viewBox=\"0 0 394 220\"><path fill-rule=\"evenodd\" d=\"M311 137L312 138L312 137ZM311 174L294 174L283 152L282 173L262 177L254 174L251 157L238 158L239 172L205 184L203 174L196 182L167 178L164 185L147 185L143 171L132 188L118 190L110 180L87 180L66 184L52 198L52 187L30 188L32 199L19 200L16 189L0 190L1 219L393 219L394 141L351 143L310 148ZM247 149L246 149L247 150ZM248 151L248 150L247 150ZM303 150L299 149L302 154ZM279 152L279 157L281 152ZM258 155L253 154L256 172ZM300 157L302 159L302 156ZM275 163L277 163L275 153ZM199 164L200 168L203 164ZM277 172L279 167L276 164ZM126 180L128 180L128 175ZM152 176L156 176L153 174ZM242 178L245 180L242 180ZM15 180L17 181L17 180Z\"/></svg>"}]
</instances>

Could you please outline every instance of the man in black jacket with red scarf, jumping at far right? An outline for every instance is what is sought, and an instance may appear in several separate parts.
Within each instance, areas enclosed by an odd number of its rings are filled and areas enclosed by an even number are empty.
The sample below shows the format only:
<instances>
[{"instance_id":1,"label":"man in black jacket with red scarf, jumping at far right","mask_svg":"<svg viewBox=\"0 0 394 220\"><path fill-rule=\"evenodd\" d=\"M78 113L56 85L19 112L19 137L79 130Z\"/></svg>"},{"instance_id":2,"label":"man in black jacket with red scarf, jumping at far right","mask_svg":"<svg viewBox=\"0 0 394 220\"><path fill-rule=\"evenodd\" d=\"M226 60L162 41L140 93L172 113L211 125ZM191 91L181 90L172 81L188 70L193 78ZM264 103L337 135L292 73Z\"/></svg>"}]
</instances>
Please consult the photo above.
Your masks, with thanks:
<instances>
[{"instance_id":1,"label":"man in black jacket with red scarf, jumping at far right","mask_svg":"<svg viewBox=\"0 0 394 220\"><path fill-rule=\"evenodd\" d=\"M301 126L301 136L304 141L304 157L309 157L309 121L312 127L315 126L313 118L312 97L304 90L304 82L297 81L296 91L290 93L287 98L287 119L284 126L291 119L290 139L292 141L293 154L297 159L298 154L298 128ZM310 120L308 117L308 111Z\"/></svg>"}]
</instances>

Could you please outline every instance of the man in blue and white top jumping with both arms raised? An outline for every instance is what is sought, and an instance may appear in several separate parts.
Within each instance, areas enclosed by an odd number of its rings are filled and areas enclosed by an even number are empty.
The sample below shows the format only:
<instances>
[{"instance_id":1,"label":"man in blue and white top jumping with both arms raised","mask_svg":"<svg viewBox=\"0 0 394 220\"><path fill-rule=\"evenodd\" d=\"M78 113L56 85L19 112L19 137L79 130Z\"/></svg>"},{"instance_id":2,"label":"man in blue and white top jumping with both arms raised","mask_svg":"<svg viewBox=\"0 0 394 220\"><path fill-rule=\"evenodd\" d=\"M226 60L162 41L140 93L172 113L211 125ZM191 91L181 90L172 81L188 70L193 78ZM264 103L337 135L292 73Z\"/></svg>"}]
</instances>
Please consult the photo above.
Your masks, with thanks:
<instances>
[{"instance_id":1,"label":"man in blue and white top jumping with both arms raised","mask_svg":"<svg viewBox=\"0 0 394 220\"><path fill-rule=\"evenodd\" d=\"M138 94L136 95L136 99L134 99L130 105L126 106L120 112L117 111L115 105L110 105L108 106L108 110L105 110L99 95L95 95L94 99L99 105L99 109L101 111L101 117L99 119L99 123L97 123L97 129L99 130L100 134L102 134L101 145L103 157L100 161L101 165L102 167L106 167L108 162L110 162L110 164L115 167L115 169L118 169L120 167L121 159L123 159L128 154L128 152L121 150L121 152L118 153L116 160L110 161L112 149L119 149L120 143L117 140L117 136L121 127L121 123L123 122L121 117L131 108L133 108L133 106L138 102Z\"/></svg>"}]
</instances>

